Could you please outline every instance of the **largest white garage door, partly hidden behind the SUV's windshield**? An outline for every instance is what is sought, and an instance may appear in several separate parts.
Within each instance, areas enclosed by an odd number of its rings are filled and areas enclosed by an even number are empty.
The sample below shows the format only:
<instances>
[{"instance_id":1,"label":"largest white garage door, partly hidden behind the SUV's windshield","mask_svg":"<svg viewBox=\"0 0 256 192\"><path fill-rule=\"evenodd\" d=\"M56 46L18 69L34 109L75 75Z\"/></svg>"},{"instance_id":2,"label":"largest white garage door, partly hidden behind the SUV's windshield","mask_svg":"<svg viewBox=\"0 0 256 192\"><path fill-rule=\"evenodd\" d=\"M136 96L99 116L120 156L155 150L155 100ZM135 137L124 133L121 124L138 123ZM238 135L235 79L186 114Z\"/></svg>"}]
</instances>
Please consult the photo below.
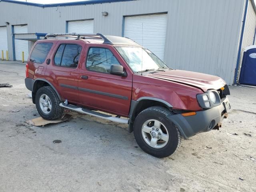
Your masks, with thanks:
<instances>
[{"instance_id":1,"label":"largest white garage door, partly hidden behind the SUV's windshield","mask_svg":"<svg viewBox=\"0 0 256 192\"><path fill-rule=\"evenodd\" d=\"M152 51L160 59L164 59L167 14L129 16L124 20L124 37L131 38Z\"/></svg>"}]
</instances>

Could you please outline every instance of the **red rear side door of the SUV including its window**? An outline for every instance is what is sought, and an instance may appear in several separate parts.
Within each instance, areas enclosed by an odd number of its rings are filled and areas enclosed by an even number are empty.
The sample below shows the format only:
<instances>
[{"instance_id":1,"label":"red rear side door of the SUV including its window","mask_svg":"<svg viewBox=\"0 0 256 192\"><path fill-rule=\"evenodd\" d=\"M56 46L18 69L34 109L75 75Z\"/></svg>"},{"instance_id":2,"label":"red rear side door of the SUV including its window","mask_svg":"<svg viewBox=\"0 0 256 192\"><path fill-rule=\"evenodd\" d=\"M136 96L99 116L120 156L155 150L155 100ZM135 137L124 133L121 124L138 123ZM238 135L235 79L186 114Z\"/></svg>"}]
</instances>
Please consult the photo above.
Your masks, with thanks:
<instances>
[{"instance_id":1,"label":"red rear side door of the SUV including its window","mask_svg":"<svg viewBox=\"0 0 256 192\"><path fill-rule=\"evenodd\" d=\"M46 76L50 76L52 84L62 99L79 102L78 97L78 65L84 44L63 43L59 41L55 52L51 55L51 64L47 67Z\"/></svg>"}]
</instances>

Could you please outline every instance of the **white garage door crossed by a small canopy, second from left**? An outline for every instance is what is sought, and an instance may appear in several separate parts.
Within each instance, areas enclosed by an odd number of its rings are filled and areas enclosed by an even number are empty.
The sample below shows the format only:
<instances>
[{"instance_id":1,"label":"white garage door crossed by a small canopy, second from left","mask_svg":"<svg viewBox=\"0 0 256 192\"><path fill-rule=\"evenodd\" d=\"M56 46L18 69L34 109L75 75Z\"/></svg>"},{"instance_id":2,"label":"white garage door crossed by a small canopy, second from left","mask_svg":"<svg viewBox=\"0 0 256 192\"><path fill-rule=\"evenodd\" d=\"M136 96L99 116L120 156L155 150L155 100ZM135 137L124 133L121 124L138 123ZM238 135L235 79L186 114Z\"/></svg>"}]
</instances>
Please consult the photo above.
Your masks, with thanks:
<instances>
[{"instance_id":1,"label":"white garage door crossed by a small canopy, second from left","mask_svg":"<svg viewBox=\"0 0 256 192\"><path fill-rule=\"evenodd\" d=\"M14 34L24 34L24 33L28 33L28 25L14 26ZM15 45L15 60L22 60L22 51L24 51L24 60L27 60L28 59L28 41L15 39L14 45Z\"/></svg>"}]
</instances>

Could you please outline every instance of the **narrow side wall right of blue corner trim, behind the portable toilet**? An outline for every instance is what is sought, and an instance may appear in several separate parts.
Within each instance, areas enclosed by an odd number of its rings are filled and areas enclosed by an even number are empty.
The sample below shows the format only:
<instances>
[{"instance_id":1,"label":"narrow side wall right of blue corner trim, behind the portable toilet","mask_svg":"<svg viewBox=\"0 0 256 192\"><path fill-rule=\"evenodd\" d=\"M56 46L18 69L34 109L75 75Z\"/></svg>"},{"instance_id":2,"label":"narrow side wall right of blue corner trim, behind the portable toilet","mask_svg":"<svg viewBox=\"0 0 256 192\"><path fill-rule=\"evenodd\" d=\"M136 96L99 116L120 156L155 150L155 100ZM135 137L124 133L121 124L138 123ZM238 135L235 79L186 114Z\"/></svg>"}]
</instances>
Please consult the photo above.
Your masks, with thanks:
<instances>
[{"instance_id":1,"label":"narrow side wall right of blue corner trim, behind the portable toilet","mask_svg":"<svg viewBox=\"0 0 256 192\"><path fill-rule=\"evenodd\" d=\"M247 13L246 13L246 21L245 21L245 26L244 26L244 36L243 36L243 40L242 40L242 47L241 47L241 53L240 53L237 82L239 80L240 70L242 67L242 59L244 56L244 49L247 46L253 45L253 42L254 42L255 26L256 26L256 13L252 6L251 0L249 0Z\"/></svg>"}]
</instances>

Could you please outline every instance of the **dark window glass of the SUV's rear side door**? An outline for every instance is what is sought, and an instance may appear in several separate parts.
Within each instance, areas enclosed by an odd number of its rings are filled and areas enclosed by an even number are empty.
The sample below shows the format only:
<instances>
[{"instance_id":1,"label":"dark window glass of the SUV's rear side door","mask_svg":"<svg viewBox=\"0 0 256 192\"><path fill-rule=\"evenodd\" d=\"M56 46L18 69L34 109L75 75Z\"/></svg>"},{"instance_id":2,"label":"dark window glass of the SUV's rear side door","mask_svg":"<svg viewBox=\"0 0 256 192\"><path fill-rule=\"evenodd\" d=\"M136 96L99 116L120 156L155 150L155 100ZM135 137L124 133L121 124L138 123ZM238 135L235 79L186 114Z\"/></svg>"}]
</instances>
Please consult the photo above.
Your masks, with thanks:
<instances>
[{"instance_id":1,"label":"dark window glass of the SUV's rear side door","mask_svg":"<svg viewBox=\"0 0 256 192\"><path fill-rule=\"evenodd\" d=\"M54 56L56 66L72 67L78 66L82 46L77 44L61 44Z\"/></svg>"}]
</instances>

